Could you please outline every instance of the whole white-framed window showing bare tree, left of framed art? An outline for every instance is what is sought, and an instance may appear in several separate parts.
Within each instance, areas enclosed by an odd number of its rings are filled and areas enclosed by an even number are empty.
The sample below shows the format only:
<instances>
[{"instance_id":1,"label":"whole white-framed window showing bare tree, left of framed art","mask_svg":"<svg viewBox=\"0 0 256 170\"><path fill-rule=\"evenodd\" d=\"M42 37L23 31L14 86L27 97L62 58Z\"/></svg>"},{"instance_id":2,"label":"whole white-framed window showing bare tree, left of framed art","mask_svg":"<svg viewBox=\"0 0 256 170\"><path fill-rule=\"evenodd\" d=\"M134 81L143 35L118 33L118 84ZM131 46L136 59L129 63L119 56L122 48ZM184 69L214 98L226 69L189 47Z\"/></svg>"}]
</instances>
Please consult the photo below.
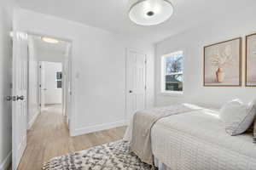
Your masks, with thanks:
<instances>
[{"instance_id":1,"label":"whole white-framed window showing bare tree, left of framed art","mask_svg":"<svg viewBox=\"0 0 256 170\"><path fill-rule=\"evenodd\" d=\"M183 93L183 51L162 57L162 93Z\"/></svg>"}]
</instances>

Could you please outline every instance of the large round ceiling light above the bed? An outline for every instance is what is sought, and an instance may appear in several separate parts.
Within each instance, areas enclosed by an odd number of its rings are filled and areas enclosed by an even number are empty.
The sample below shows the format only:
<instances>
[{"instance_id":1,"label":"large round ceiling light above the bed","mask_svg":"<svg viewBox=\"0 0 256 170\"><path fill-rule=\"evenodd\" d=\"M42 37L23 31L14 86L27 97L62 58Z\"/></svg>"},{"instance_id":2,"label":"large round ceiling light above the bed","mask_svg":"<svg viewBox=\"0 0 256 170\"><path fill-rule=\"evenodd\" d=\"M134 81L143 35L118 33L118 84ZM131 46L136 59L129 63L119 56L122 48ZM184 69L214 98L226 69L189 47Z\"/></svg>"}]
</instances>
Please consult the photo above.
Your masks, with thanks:
<instances>
[{"instance_id":1,"label":"large round ceiling light above the bed","mask_svg":"<svg viewBox=\"0 0 256 170\"><path fill-rule=\"evenodd\" d=\"M154 26L168 20L173 14L169 0L130 0L129 17L141 26Z\"/></svg>"}]
</instances>

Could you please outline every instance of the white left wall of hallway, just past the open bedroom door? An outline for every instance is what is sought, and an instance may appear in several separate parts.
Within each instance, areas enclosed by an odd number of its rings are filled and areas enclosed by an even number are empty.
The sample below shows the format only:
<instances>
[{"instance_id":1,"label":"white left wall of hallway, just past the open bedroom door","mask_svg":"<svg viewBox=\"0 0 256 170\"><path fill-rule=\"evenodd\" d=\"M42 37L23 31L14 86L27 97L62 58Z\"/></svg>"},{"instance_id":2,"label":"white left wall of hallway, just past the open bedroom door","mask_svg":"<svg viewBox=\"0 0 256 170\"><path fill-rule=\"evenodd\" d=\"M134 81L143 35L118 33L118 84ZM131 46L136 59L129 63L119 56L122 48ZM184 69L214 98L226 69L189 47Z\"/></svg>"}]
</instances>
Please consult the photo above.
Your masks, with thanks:
<instances>
[{"instance_id":1,"label":"white left wall of hallway, just past the open bedroom door","mask_svg":"<svg viewBox=\"0 0 256 170\"><path fill-rule=\"evenodd\" d=\"M39 114L38 105L38 55L35 51L34 41L31 36L28 38L28 129L32 127Z\"/></svg>"}]
</instances>

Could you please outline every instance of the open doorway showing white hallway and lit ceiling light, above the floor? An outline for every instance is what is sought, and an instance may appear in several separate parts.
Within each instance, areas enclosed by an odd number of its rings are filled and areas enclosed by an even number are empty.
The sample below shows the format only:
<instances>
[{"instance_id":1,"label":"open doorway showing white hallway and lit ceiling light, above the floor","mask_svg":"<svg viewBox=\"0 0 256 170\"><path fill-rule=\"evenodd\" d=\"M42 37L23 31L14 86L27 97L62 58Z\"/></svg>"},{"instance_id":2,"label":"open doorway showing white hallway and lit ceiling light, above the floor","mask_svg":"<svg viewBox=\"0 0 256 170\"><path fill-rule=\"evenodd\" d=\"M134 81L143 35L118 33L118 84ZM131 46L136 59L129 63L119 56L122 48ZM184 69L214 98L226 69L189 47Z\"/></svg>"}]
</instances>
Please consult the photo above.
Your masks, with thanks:
<instances>
[{"instance_id":1,"label":"open doorway showing white hallway and lit ceiling light, above the floor","mask_svg":"<svg viewBox=\"0 0 256 170\"><path fill-rule=\"evenodd\" d=\"M28 35L28 129L37 113L55 107L69 123L70 48L71 42L68 41Z\"/></svg>"}]
</instances>

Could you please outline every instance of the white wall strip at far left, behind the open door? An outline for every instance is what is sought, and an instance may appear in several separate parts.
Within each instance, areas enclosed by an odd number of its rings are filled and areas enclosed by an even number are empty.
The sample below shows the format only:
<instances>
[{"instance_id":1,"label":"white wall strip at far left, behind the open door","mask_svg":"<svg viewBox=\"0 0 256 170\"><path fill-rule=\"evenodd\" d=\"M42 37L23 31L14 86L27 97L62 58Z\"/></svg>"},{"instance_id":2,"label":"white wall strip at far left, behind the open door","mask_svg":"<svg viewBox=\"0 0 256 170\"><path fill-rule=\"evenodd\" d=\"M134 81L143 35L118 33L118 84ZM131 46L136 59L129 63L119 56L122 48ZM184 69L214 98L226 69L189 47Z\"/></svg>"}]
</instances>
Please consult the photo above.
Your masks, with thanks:
<instances>
[{"instance_id":1,"label":"white wall strip at far left, behind the open door","mask_svg":"<svg viewBox=\"0 0 256 170\"><path fill-rule=\"evenodd\" d=\"M0 170L6 169L11 160L11 110L5 97L11 95L12 43L9 31L12 30L13 6L13 0L3 0L0 5Z\"/></svg>"}]
</instances>

